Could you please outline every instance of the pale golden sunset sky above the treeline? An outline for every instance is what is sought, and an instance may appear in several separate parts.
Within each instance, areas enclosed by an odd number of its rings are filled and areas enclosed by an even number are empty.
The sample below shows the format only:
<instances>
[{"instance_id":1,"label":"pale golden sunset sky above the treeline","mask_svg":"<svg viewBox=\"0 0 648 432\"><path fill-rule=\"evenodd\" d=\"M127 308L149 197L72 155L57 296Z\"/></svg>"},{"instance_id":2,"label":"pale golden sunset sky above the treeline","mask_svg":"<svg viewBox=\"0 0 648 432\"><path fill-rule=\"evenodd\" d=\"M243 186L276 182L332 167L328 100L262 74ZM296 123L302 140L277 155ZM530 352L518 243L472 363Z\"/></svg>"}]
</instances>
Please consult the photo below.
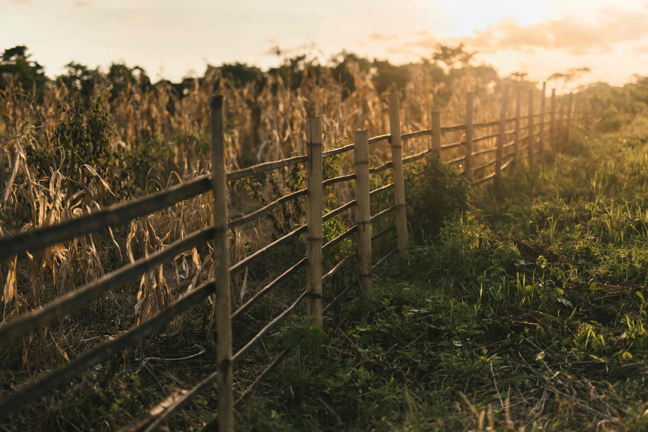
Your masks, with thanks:
<instances>
[{"instance_id":1,"label":"pale golden sunset sky above the treeline","mask_svg":"<svg viewBox=\"0 0 648 432\"><path fill-rule=\"evenodd\" d=\"M53 77L75 61L152 78L207 64L267 69L342 50L395 63L465 43L500 75L590 67L583 82L648 75L648 0L0 0L0 51L27 45Z\"/></svg>"}]
</instances>

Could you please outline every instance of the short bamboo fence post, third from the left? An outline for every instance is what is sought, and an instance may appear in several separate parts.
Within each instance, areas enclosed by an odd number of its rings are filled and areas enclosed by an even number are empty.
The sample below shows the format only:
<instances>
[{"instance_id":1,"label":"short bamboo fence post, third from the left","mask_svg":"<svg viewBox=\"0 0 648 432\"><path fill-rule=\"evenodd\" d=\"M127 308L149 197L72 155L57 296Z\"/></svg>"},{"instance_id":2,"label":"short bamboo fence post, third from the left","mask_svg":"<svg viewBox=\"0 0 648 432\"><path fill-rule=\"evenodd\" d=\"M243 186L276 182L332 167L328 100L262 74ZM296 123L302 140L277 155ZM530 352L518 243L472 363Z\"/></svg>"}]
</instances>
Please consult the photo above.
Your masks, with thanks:
<instances>
[{"instance_id":1,"label":"short bamboo fence post, third from the left","mask_svg":"<svg viewBox=\"0 0 648 432\"><path fill-rule=\"evenodd\" d=\"M365 302L371 302L371 210L369 207L369 131L357 131L353 138L356 173L356 227L358 275Z\"/></svg>"}]
</instances>

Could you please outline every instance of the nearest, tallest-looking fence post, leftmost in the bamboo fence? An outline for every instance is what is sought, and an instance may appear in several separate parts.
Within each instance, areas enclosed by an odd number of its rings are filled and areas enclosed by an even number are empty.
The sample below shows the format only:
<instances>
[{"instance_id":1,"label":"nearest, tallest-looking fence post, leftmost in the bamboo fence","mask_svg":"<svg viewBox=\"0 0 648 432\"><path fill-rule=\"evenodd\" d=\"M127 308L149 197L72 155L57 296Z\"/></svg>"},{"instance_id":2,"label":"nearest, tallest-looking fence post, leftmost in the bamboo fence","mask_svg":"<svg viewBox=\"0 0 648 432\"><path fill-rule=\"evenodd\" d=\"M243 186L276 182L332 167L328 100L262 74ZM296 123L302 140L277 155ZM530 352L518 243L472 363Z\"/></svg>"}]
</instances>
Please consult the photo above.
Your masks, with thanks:
<instances>
[{"instance_id":1,"label":"nearest, tallest-looking fence post, leftmost in the bamboo fence","mask_svg":"<svg viewBox=\"0 0 648 432\"><path fill-rule=\"evenodd\" d=\"M234 430L232 392L232 326L227 245L227 180L223 141L223 97L211 97L211 185L214 215L214 283L216 284L216 362L218 365L218 430Z\"/></svg>"}]
</instances>

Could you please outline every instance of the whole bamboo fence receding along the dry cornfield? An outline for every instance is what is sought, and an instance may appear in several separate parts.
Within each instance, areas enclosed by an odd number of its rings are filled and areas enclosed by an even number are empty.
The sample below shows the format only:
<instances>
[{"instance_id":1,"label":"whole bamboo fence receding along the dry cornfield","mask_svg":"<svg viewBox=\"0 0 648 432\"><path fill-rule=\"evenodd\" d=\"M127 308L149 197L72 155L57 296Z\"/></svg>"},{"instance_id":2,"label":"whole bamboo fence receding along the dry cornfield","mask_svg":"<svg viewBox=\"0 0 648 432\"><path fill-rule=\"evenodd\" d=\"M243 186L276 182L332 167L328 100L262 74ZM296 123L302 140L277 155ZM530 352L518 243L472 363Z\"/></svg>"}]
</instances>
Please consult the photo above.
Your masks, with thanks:
<instances>
[{"instance_id":1,"label":"whole bamboo fence receding along the dry cornfield","mask_svg":"<svg viewBox=\"0 0 648 432\"><path fill-rule=\"evenodd\" d=\"M543 86L544 88L544 86ZM134 218L144 216L154 211L163 210L182 200L187 200L207 191L213 191L214 224L208 228L198 230L186 237L175 241L171 245L141 258L130 265L115 270L88 283L84 287L71 293L60 296L51 303L31 311L12 322L6 322L0 326L0 344L5 344L10 339L25 335L38 330L55 318L63 317L73 311L76 307L97 300L111 290L120 287L126 282L136 280L141 275L155 269L163 263L171 261L179 254L191 250L208 241L213 241L214 279L209 280L189 293L181 296L175 302L159 312L155 317L146 320L128 331L123 331L119 336L110 341L99 344L87 351L80 357L73 359L70 363L60 366L53 372L18 387L15 392L6 396L0 401L0 419L7 418L10 414L18 411L27 403L34 402L47 392L60 387L76 376L80 375L93 365L105 361L111 355L115 355L129 346L152 335L172 319L184 313L190 307L205 301L208 296L215 294L216 298L216 331L217 331L217 370L207 376L191 390L185 392L175 400L165 411L147 424L146 430L154 430L163 424L173 413L187 405L197 394L205 390L214 382L218 384L218 415L214 422L218 422L222 431L233 429L233 410L240 406L251 394L253 389L272 370L286 358L288 350L284 350L272 361L270 366L264 370L251 383L248 389L244 390L235 402L233 399L232 370L237 361L240 361L257 342L259 342L268 331L272 330L279 322L288 317L303 300L307 300L308 315L315 317L316 322L321 326L323 316L334 304L349 292L354 283L343 289L336 298L323 307L322 282L332 277L345 263L355 261L357 266L358 280L365 301L371 301L371 272L380 263L394 254L399 254L401 259L408 259L407 246L407 221L406 202L404 189L404 165L416 162L424 158L428 153L432 157L442 158L446 163L463 167L463 173L473 184L481 184L493 178L495 182L501 180L502 171L515 163L520 163L525 158L528 160L528 167L531 170L537 169L538 155L546 151L555 151L558 146L559 133L562 137L568 134L568 128L573 124L575 110L572 108L573 97L568 98L566 110L556 110L555 93L551 93L550 110L546 111L544 92L542 93L541 112L533 113L533 92L529 91L529 104L527 115L521 115L520 93L516 95L515 115L507 117L507 93L503 90L502 109L500 118L485 123L473 122L472 93L467 95L466 121L461 125L441 126L441 110L439 106L432 106L432 121L429 129L419 130L401 134L399 118L399 97L398 93L391 93L389 102L389 134L369 137L369 132L360 131L354 135L354 143L345 145L338 149L322 149L323 134L321 119L309 117L307 120L307 155L295 156L281 161L265 162L245 169L226 172L224 161L224 136L222 118L222 97L215 96L211 99L211 129L212 129L212 173L211 176L202 176L191 182L179 186L170 187L165 191L154 193L146 197L118 204L98 213L87 214L73 220L65 221L56 226L44 226L36 230L30 230L21 234L11 234L0 237L0 259L12 258L27 250L37 250L45 246L54 245L80 237L85 234L97 232L110 226L115 226ZM581 104L581 115L588 121L586 106ZM549 123L546 126L546 123ZM564 125L564 126L563 126ZM510 127L510 129L509 129ZM481 134L475 134L475 131ZM442 145L442 137L456 136L463 132L463 138ZM524 136L521 136L523 134ZM419 137L430 137L428 148L402 156L402 141ZM391 143L391 161L377 167L369 167L369 149L382 141ZM494 145L492 143L494 142ZM491 143L491 147L480 146L474 149L478 143ZM323 178L323 160L334 155L343 154L354 150L354 173L340 175L335 178ZM449 157L445 155L449 154ZM458 154L458 155L457 155ZM491 158L492 154L495 155ZM486 159L485 159L486 158ZM307 163L307 187L293 193L289 193L275 199L247 215L228 220L227 217L227 186L237 180L265 173L282 167L288 167L297 163ZM369 176L388 169L392 170L393 183L386 184L371 191L369 187ZM489 173L489 171L492 171ZM323 213L322 189L323 187L338 182L354 180L355 199L347 202L335 210ZM393 189L394 205L378 211L375 215L370 214L371 197L381 191ZM234 263L229 262L229 247L227 230L242 226L248 222L256 221L266 215L277 206L295 200L298 197L306 197L307 200L307 223L283 237L273 241L267 246L249 254L246 258ZM343 234L330 240L323 245L322 225L324 222L340 215L343 211L355 208L355 224ZM377 219L388 213L395 213L395 224L385 230L371 235L371 225ZM373 260L372 240L386 234L395 228L397 232L396 247L386 256ZM253 294L249 300L242 304L234 312L231 311L230 301L230 278L242 272L246 267L268 256L278 246L288 241L297 239L299 235L306 234L305 258L293 263L279 277L268 283L265 287ZM322 252L338 245L341 241L356 234L356 254L353 257L346 257L334 265L327 273L323 274ZM262 330L252 337L238 352L232 353L231 326L232 322L241 317L253 304L259 302L279 283L294 275L297 270L306 267L307 285L305 291L294 300L291 306L273 318ZM214 427L215 423L207 424L205 429Z\"/></svg>"}]
</instances>

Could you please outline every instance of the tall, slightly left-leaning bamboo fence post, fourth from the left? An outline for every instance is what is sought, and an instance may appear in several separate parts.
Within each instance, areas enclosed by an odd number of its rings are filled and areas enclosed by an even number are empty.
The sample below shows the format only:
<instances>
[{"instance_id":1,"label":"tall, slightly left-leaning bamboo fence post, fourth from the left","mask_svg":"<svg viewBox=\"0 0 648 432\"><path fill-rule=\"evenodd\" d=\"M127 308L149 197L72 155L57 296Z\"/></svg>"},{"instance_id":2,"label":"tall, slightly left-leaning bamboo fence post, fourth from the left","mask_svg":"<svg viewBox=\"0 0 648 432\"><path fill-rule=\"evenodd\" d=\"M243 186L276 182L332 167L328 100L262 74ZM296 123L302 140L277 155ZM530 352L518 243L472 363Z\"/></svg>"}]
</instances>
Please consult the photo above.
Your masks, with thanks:
<instances>
[{"instance_id":1,"label":"tall, slightly left-leaning bamboo fence post, fourth from the left","mask_svg":"<svg viewBox=\"0 0 648 432\"><path fill-rule=\"evenodd\" d=\"M394 205L396 206L396 236L400 258L410 259L407 248L407 214L405 209L405 179L403 154L400 145L399 93L389 93L389 134L391 134L391 163L394 178Z\"/></svg>"}]
</instances>

